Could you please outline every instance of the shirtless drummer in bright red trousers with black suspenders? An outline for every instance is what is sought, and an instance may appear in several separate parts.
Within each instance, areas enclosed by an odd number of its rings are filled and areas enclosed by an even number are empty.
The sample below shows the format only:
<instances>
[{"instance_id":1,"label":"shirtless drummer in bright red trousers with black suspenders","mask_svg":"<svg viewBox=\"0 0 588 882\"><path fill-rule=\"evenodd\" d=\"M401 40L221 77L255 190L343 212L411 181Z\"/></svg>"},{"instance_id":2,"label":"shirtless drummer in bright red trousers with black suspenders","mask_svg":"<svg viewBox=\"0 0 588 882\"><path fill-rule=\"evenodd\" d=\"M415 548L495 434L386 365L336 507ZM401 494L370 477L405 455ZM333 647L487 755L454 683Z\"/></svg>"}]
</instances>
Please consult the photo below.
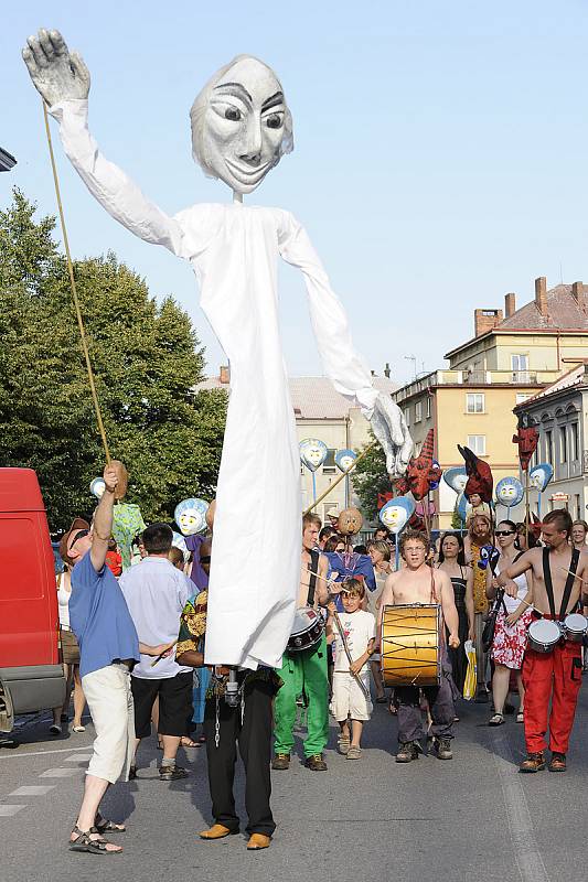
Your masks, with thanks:
<instances>
[{"instance_id":1,"label":"shirtless drummer in bright red trousers with black suspenders","mask_svg":"<svg viewBox=\"0 0 588 882\"><path fill-rule=\"evenodd\" d=\"M569 546L570 536L569 513L563 508L549 512L543 518L542 526L545 548L531 548L499 576L499 584L504 587L506 580L532 570L535 619L543 616L563 621L568 613L577 610L581 601L582 580L588 577L588 555ZM512 582L510 584L513 585ZM581 685L581 643L562 639L550 653L527 648L523 662L523 685L527 756L518 771L539 772L545 768L545 733L548 727L552 751L549 770L565 772L569 734Z\"/></svg>"}]
</instances>

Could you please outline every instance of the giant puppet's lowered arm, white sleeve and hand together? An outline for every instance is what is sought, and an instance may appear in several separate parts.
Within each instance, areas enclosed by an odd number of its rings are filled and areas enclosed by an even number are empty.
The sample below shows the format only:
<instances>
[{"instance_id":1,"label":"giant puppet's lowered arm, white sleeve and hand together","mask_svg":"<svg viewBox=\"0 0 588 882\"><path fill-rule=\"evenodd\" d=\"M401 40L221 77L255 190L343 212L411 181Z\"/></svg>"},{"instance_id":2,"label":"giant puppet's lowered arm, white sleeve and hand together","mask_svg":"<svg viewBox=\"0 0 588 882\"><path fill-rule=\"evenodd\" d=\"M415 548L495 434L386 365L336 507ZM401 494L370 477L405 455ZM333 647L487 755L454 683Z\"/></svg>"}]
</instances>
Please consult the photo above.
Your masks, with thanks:
<instances>
[{"instance_id":1,"label":"giant puppet's lowered arm, white sleeve and hand together","mask_svg":"<svg viewBox=\"0 0 588 882\"><path fill-rule=\"evenodd\" d=\"M280 255L288 263L299 267L304 276L312 330L324 373L338 392L359 401L384 448L388 473L398 477L406 471L413 451L413 440L404 416L389 396L373 387L370 372L353 347L343 305L331 289L306 230L287 212L281 213L281 218Z\"/></svg>"}]
</instances>

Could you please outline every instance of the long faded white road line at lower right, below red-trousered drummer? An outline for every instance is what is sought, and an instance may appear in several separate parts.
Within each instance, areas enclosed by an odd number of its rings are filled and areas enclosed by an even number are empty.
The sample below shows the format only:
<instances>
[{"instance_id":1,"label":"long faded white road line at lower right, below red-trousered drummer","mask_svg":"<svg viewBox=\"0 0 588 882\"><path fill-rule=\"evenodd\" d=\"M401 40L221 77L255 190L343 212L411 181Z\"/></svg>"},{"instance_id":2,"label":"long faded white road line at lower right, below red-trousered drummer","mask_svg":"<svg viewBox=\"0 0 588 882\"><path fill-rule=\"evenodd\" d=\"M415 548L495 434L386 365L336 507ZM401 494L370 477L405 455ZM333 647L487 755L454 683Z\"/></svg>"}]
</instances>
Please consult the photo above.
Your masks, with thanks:
<instances>
[{"instance_id":1,"label":"long faded white road line at lower right, below red-trousered drummer","mask_svg":"<svg viewBox=\"0 0 588 882\"><path fill-rule=\"evenodd\" d=\"M538 849L527 799L506 736L493 730L490 733L490 741L521 880L523 882L550 882Z\"/></svg>"}]
</instances>

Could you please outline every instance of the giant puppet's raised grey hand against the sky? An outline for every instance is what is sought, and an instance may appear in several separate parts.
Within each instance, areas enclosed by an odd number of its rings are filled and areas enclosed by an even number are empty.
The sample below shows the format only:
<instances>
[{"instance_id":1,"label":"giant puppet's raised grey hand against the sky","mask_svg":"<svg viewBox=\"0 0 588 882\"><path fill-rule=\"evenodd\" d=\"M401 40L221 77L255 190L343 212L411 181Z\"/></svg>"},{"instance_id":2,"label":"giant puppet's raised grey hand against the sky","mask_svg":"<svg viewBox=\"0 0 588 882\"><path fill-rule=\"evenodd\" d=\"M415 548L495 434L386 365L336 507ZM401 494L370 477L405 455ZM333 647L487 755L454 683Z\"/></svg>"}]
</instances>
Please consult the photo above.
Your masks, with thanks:
<instances>
[{"instance_id":1,"label":"giant puppet's raised grey hand against the sky","mask_svg":"<svg viewBox=\"0 0 588 882\"><path fill-rule=\"evenodd\" d=\"M58 31L42 28L22 51L31 79L46 104L86 99L89 71L77 52L70 52Z\"/></svg>"}]
</instances>

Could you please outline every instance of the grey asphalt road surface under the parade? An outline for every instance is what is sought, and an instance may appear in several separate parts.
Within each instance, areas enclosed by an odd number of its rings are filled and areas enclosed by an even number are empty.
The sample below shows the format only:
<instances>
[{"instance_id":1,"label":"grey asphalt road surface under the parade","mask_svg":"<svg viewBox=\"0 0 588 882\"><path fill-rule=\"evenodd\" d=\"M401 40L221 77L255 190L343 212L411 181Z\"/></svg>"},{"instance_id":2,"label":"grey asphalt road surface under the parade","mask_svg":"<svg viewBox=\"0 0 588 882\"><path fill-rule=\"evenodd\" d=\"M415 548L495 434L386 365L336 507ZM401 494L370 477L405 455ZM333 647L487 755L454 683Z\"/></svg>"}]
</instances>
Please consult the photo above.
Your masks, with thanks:
<instances>
[{"instance_id":1,"label":"grey asphalt road surface under the parade","mask_svg":"<svg viewBox=\"0 0 588 882\"><path fill-rule=\"evenodd\" d=\"M588 692L580 693L568 772L517 774L523 727L507 717L488 728L488 704L460 702L455 759L394 762L396 722L376 704L363 753L325 751L328 772L303 767L300 731L288 772L272 773L278 824L271 847L247 852L247 838L203 842L211 821L205 749L179 754L184 781L158 778L153 738L139 753L139 779L111 787L106 817L125 821L122 854L67 851L93 731L49 735L49 716L20 721L14 750L0 747L1 882L586 882ZM243 771L236 775L243 807ZM246 822L246 821L245 821ZM245 826L245 822L243 826ZM113 840L115 837L111 837Z\"/></svg>"}]
</instances>

